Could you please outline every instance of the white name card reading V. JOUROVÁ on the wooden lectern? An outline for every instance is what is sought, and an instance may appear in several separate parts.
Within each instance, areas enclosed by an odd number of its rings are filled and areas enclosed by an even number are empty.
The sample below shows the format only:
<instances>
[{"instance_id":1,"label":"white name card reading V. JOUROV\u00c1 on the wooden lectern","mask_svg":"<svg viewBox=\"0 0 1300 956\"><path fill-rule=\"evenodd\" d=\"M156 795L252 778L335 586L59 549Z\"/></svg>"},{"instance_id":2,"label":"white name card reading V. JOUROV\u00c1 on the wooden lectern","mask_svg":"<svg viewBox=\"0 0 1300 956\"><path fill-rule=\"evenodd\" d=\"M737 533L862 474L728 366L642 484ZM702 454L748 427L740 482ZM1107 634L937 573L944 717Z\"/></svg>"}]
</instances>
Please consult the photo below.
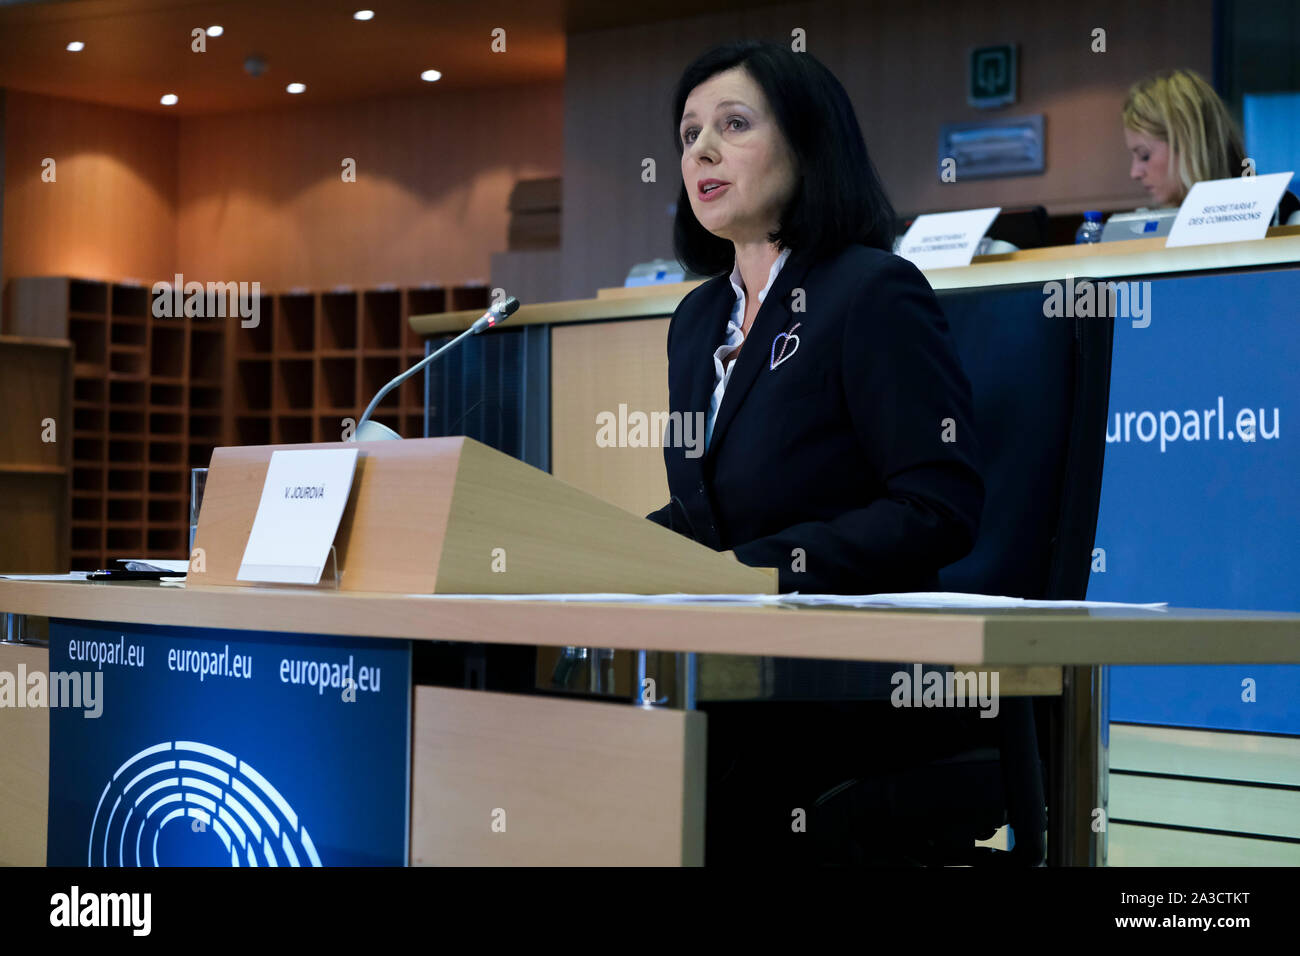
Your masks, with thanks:
<instances>
[{"instance_id":1,"label":"white name card reading V. JOUROV\u00c1 on the wooden lectern","mask_svg":"<svg viewBox=\"0 0 1300 956\"><path fill-rule=\"evenodd\" d=\"M239 581L317 584L352 490L359 449L272 451Z\"/></svg>"}]
</instances>

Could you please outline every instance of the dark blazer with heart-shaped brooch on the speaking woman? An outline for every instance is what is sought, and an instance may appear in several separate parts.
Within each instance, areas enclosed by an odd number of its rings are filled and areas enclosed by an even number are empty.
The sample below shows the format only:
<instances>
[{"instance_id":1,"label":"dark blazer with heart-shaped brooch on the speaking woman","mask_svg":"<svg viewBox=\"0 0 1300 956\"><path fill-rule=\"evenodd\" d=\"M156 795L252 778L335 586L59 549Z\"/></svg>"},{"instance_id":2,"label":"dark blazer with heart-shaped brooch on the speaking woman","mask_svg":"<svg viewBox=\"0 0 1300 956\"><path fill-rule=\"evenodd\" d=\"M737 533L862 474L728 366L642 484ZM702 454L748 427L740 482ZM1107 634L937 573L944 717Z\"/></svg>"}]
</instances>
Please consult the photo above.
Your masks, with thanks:
<instances>
[{"instance_id":1,"label":"dark blazer with heart-shaped brooch on the speaking woman","mask_svg":"<svg viewBox=\"0 0 1300 956\"><path fill-rule=\"evenodd\" d=\"M924 276L861 245L820 261L793 251L701 455L734 303L716 276L672 315L670 411L701 427L670 424L671 501L647 518L779 568L783 592L936 591L974 545L984 485L970 382Z\"/></svg>"}]
</instances>

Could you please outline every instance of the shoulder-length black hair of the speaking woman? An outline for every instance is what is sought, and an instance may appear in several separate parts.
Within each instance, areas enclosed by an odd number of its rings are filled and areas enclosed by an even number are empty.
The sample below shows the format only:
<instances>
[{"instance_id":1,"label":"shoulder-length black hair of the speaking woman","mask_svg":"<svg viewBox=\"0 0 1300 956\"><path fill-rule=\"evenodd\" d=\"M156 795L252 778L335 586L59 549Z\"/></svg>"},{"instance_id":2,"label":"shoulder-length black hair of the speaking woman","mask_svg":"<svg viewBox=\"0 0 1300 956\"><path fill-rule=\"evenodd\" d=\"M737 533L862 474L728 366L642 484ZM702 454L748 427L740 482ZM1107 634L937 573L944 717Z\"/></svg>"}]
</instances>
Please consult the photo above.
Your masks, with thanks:
<instances>
[{"instance_id":1,"label":"shoulder-length black hair of the speaking woman","mask_svg":"<svg viewBox=\"0 0 1300 956\"><path fill-rule=\"evenodd\" d=\"M733 66L742 66L762 87L796 159L798 183L768 241L783 250L809 250L815 259L854 242L893 251L894 209L867 155L853 103L835 74L811 53L794 53L780 43L736 40L698 56L677 81L672 100L679 159L686 98ZM677 195L672 245L677 260L701 276L728 272L736 261L732 242L696 219L685 182Z\"/></svg>"}]
</instances>

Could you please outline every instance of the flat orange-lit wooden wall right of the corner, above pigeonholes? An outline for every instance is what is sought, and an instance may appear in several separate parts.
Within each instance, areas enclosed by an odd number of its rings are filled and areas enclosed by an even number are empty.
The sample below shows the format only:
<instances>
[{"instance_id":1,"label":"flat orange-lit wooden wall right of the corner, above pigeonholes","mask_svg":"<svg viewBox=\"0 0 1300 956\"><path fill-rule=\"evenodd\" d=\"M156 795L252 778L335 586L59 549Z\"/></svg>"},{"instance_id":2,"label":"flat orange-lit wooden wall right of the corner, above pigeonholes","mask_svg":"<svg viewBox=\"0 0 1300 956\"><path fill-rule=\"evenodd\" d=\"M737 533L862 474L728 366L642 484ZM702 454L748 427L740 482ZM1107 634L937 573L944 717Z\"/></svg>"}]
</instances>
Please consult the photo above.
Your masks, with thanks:
<instances>
[{"instance_id":1,"label":"flat orange-lit wooden wall right of the corner, above pigeonholes","mask_svg":"<svg viewBox=\"0 0 1300 956\"><path fill-rule=\"evenodd\" d=\"M486 282L515 182L559 173L562 114L551 85L185 118L178 265L268 291Z\"/></svg>"}]
</instances>

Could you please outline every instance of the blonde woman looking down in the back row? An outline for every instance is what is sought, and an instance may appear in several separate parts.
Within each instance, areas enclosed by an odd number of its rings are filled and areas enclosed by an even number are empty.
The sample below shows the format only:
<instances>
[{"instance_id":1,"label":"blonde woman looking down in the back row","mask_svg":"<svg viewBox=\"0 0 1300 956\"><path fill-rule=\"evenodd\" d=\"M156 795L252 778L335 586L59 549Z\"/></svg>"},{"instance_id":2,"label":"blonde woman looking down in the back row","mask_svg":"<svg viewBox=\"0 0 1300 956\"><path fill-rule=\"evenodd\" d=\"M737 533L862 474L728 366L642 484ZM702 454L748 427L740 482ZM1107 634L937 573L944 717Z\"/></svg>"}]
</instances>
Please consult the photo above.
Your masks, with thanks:
<instances>
[{"instance_id":1,"label":"blonde woman looking down in the back row","mask_svg":"<svg viewBox=\"0 0 1300 956\"><path fill-rule=\"evenodd\" d=\"M1214 88L1192 70L1170 70L1135 83L1123 109L1131 178L1156 206L1180 206L1192 183L1227 179L1245 169L1236 122ZM1300 211L1282 196L1274 224Z\"/></svg>"}]
</instances>

